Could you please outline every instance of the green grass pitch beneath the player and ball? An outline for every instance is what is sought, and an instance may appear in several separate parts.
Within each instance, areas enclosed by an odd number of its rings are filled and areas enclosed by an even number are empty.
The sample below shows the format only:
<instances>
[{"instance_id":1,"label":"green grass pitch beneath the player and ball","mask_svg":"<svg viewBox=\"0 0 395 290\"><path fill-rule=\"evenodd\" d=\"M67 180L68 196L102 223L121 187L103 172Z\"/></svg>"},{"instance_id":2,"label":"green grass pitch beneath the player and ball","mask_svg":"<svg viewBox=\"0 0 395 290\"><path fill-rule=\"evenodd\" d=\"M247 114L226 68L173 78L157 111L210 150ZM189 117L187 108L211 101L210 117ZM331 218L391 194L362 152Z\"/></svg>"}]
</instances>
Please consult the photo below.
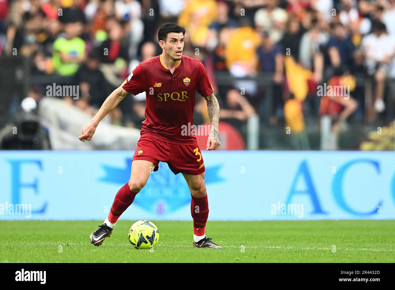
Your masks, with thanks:
<instances>
[{"instance_id":1,"label":"green grass pitch beneath the player and ball","mask_svg":"<svg viewBox=\"0 0 395 290\"><path fill-rule=\"evenodd\" d=\"M132 221L100 247L89 243L100 221L0 221L0 262L395 262L394 220L209 221L206 234L223 249L192 247L192 221L153 222L151 253L130 245Z\"/></svg>"}]
</instances>

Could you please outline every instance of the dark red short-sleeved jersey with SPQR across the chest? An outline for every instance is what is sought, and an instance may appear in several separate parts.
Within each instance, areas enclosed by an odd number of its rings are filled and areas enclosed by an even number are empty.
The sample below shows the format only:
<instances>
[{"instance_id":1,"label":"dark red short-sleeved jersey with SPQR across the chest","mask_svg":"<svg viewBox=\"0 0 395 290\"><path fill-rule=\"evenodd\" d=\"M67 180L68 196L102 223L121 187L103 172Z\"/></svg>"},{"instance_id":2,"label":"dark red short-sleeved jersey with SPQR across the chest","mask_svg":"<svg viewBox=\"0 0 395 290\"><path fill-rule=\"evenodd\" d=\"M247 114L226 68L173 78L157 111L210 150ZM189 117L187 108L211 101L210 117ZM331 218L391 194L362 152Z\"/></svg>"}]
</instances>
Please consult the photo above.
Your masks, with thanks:
<instances>
[{"instance_id":1,"label":"dark red short-sleeved jersey with SPQR across the chest","mask_svg":"<svg viewBox=\"0 0 395 290\"><path fill-rule=\"evenodd\" d=\"M195 136L181 132L183 125L193 125L195 91L203 97L213 94L207 71L199 60L182 56L171 74L161 57L155 56L137 65L122 88L133 95L145 92L147 105L141 135L176 144L196 143Z\"/></svg>"}]
</instances>

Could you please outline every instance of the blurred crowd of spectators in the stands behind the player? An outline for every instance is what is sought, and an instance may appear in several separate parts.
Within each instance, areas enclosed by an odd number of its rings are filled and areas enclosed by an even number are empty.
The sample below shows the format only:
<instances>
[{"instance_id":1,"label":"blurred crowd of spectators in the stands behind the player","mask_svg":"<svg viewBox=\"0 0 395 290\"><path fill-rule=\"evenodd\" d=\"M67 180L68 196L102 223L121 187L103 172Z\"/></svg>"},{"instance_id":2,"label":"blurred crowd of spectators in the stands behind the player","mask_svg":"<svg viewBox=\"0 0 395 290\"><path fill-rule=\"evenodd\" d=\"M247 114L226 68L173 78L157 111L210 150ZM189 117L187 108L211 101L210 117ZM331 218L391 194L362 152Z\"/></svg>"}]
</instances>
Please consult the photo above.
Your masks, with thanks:
<instances>
[{"instance_id":1,"label":"blurred crowd of spectators in the stands behind the player","mask_svg":"<svg viewBox=\"0 0 395 290\"><path fill-rule=\"evenodd\" d=\"M386 80L395 78L395 0L0 0L0 54L30 56L32 76L48 84L71 77L80 97L62 97L94 114L139 62L162 52L165 22L186 29L183 54L203 62L221 120L237 128L258 114L303 132L325 114L344 129L367 110L393 110ZM217 83L218 72L229 73L228 84ZM244 78L258 75L267 81ZM372 80L371 108L355 75ZM350 92L319 95L323 84ZM36 101L46 85L32 83ZM204 99L196 102L194 122L207 122ZM139 128L144 109L145 94L126 98L112 122Z\"/></svg>"}]
</instances>

